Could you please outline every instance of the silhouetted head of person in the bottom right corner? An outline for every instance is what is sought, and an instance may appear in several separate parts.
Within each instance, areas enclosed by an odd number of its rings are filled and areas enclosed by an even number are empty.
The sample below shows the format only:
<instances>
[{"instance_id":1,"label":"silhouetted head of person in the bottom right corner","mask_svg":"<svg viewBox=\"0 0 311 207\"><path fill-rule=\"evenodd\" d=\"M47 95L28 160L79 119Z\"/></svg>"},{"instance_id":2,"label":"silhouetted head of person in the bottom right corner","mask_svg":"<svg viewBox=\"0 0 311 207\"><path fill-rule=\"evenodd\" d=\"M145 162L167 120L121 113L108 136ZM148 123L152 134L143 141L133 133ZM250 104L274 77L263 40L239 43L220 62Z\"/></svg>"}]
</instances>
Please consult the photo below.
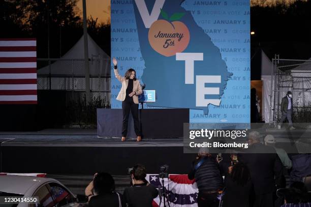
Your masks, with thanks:
<instances>
[{"instance_id":1,"label":"silhouetted head of person in the bottom right corner","mask_svg":"<svg viewBox=\"0 0 311 207\"><path fill-rule=\"evenodd\" d=\"M278 197L284 198L281 207L309 207L310 193L302 182L294 182L290 188L281 188L276 191Z\"/></svg>"}]
</instances>

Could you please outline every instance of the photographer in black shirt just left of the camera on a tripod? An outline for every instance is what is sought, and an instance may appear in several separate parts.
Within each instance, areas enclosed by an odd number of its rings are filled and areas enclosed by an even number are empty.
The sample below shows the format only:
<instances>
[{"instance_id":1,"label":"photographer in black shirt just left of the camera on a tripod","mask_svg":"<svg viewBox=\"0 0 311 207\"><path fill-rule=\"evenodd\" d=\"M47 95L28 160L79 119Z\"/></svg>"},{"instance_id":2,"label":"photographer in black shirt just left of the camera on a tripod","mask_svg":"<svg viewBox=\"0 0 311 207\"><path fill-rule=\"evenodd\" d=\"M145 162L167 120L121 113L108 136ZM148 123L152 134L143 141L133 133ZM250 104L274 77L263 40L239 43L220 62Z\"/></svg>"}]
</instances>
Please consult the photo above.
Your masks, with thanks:
<instances>
[{"instance_id":1,"label":"photographer in black shirt just left of the camera on a tripod","mask_svg":"<svg viewBox=\"0 0 311 207\"><path fill-rule=\"evenodd\" d=\"M146 168L137 164L131 171L132 187L125 189L123 196L129 207L151 207L153 198L158 196L158 190L146 182Z\"/></svg>"}]
</instances>

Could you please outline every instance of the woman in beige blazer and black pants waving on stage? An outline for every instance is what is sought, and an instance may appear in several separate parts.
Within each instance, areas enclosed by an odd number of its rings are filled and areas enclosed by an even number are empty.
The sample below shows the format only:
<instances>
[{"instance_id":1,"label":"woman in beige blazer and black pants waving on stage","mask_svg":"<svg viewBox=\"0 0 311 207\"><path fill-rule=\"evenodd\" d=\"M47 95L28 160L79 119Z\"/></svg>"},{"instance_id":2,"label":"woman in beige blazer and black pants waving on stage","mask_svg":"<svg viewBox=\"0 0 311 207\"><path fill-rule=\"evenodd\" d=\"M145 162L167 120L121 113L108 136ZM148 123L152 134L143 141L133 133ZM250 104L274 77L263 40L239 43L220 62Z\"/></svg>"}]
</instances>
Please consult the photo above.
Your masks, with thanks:
<instances>
[{"instance_id":1,"label":"woman in beige blazer and black pants waving on stage","mask_svg":"<svg viewBox=\"0 0 311 207\"><path fill-rule=\"evenodd\" d=\"M142 94L139 80L136 79L136 72L130 68L124 77L119 75L117 68L117 60L112 58L114 65L114 75L122 83L121 90L116 97L117 100L122 101L122 142L126 140L128 133L128 123L130 111L132 112L134 120L134 130L137 135L137 142L141 141L140 122L138 118L138 95Z\"/></svg>"}]
</instances>

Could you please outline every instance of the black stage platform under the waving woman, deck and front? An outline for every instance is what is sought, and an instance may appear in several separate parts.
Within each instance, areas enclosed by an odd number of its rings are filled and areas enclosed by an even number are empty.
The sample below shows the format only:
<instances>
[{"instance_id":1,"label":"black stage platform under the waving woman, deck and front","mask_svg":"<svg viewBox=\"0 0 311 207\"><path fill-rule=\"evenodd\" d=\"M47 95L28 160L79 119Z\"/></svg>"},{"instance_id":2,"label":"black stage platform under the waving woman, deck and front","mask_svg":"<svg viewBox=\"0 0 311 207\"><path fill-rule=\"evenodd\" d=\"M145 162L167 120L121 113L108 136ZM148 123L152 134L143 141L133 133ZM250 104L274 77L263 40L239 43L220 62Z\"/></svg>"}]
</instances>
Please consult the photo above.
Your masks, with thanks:
<instances>
[{"instance_id":1,"label":"black stage platform under the waving woman, deck and front","mask_svg":"<svg viewBox=\"0 0 311 207\"><path fill-rule=\"evenodd\" d=\"M278 130L270 128L282 147L293 145L311 152L311 129ZM183 153L183 140L128 139L98 137L96 129L46 129L38 132L0 132L0 171L45 172L47 174L93 175L108 171L127 175L127 168L144 164L157 173L168 164L171 174L188 174L195 154ZM299 151L299 149L298 149Z\"/></svg>"}]
</instances>

